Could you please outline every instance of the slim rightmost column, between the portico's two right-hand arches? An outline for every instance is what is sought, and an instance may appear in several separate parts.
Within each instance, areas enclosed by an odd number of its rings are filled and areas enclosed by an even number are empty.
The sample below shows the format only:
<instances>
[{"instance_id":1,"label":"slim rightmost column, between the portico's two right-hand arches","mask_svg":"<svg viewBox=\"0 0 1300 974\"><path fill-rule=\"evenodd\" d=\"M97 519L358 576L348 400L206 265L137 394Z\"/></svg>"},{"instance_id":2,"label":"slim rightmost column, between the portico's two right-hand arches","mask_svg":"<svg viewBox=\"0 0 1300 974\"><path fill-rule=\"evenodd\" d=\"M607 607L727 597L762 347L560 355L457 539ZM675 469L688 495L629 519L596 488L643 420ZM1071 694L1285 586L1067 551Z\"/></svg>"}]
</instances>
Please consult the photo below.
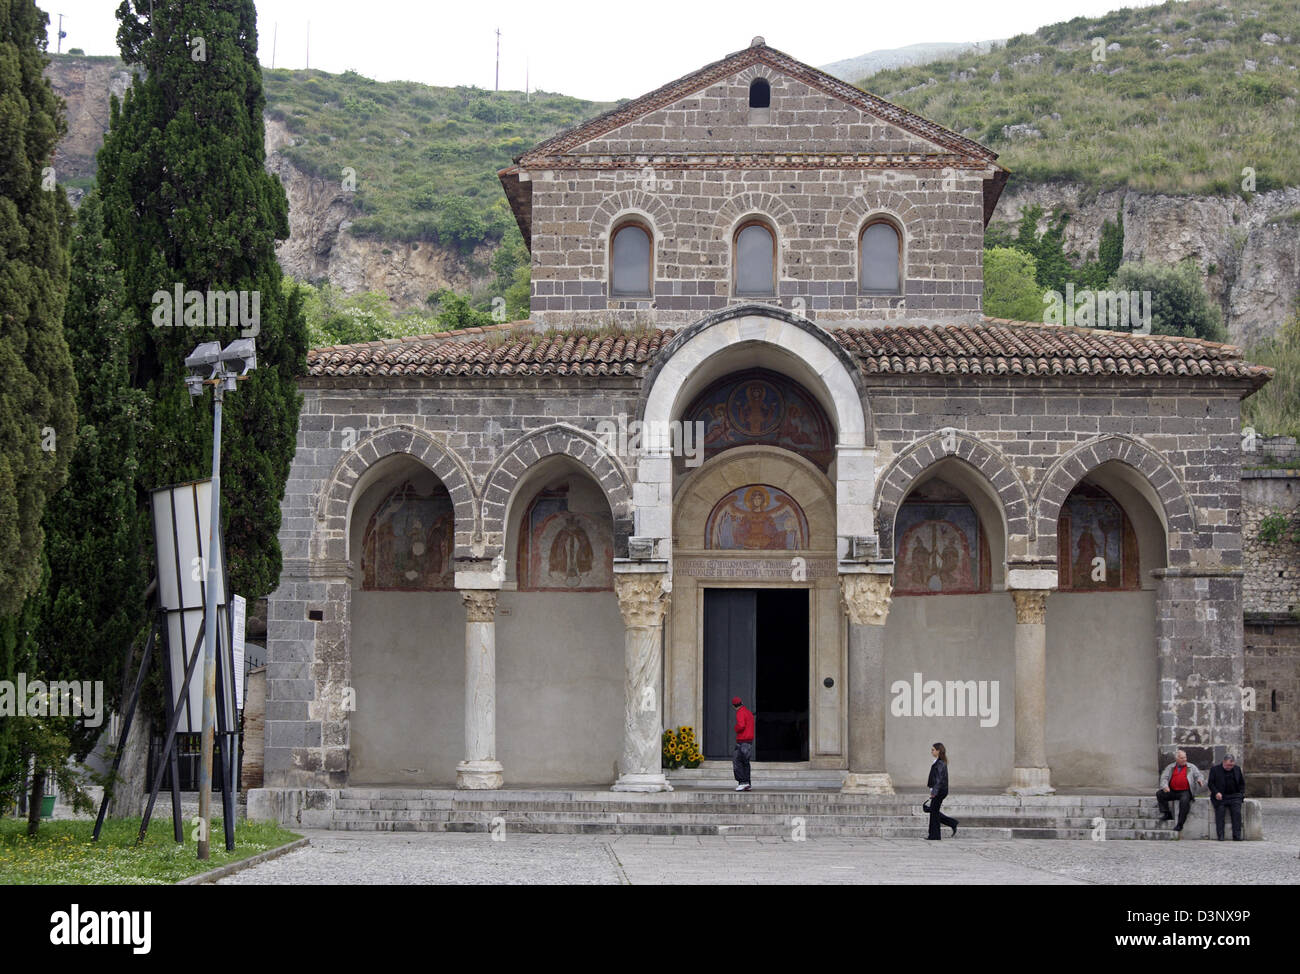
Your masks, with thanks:
<instances>
[{"instance_id":1,"label":"slim rightmost column, between the portico's two right-hand arches","mask_svg":"<svg viewBox=\"0 0 1300 974\"><path fill-rule=\"evenodd\" d=\"M1015 769L1011 795L1052 795L1048 767L1049 589L1011 589L1015 601Z\"/></svg>"}]
</instances>

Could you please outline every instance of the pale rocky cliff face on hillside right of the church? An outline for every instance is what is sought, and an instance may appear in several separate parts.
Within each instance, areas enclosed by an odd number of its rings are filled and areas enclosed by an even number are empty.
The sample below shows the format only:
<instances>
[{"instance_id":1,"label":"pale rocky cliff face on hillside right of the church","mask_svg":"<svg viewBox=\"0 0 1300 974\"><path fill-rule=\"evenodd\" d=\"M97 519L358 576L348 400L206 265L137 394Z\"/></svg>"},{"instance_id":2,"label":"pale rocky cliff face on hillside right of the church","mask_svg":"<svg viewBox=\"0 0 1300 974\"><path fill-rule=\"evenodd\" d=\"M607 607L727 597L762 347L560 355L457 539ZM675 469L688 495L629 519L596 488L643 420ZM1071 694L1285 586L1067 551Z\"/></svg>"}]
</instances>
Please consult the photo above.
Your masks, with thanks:
<instances>
[{"instance_id":1,"label":"pale rocky cliff face on hillside right of the church","mask_svg":"<svg viewBox=\"0 0 1300 974\"><path fill-rule=\"evenodd\" d=\"M1095 255L1101 224L1124 215L1124 260L1176 264L1193 259L1223 309L1232 341L1271 334L1300 300L1300 187L1236 196L1088 194L1072 183L1008 187L994 221L1014 224L1026 207L1063 205L1066 251Z\"/></svg>"}]
</instances>

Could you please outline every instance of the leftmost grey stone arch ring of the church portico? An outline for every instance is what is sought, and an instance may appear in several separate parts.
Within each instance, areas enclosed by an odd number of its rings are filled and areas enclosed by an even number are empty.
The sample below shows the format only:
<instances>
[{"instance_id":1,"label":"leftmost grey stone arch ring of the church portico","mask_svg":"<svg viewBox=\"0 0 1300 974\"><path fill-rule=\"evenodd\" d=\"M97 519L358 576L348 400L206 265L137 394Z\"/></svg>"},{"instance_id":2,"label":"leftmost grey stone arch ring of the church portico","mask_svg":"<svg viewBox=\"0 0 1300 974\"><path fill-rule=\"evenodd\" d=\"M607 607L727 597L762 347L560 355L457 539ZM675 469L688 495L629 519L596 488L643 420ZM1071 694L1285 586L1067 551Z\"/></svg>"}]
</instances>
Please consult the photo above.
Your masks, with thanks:
<instances>
[{"instance_id":1,"label":"leftmost grey stone arch ring of the church portico","mask_svg":"<svg viewBox=\"0 0 1300 974\"><path fill-rule=\"evenodd\" d=\"M315 558L338 562L352 558L348 532L352 507L380 476L376 464L395 454L419 460L447 488L455 511L455 554L469 557L477 528L478 495L468 464L422 429L394 425L365 437L334 464L316 506Z\"/></svg>"}]
</instances>

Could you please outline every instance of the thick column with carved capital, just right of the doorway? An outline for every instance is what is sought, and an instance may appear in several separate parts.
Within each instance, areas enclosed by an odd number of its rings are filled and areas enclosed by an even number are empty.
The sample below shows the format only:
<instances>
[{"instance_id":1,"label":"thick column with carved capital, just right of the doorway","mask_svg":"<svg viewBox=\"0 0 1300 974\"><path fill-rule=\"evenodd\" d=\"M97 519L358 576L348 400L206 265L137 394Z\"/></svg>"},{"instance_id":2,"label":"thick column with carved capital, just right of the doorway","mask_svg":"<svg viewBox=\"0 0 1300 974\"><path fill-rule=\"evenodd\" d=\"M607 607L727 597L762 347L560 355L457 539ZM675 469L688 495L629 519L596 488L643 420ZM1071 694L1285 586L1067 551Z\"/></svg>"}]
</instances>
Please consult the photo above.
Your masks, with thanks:
<instances>
[{"instance_id":1,"label":"thick column with carved capital, just right of the doorway","mask_svg":"<svg viewBox=\"0 0 1300 974\"><path fill-rule=\"evenodd\" d=\"M840 791L893 795L885 771L885 620L893 575L840 575L840 599L849 622L849 772Z\"/></svg>"}]
</instances>

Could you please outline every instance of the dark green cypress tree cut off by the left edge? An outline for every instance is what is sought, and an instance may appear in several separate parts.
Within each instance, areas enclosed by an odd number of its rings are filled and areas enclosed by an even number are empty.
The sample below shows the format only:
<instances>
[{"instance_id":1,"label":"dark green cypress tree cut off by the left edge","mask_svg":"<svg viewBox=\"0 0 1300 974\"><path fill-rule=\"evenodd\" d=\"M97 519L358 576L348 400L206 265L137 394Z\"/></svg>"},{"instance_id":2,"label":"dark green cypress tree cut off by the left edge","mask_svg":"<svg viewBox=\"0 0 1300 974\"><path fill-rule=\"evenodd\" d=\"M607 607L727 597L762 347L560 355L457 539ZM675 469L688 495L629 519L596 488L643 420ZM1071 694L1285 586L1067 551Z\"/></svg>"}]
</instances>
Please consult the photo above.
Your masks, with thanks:
<instances>
[{"instance_id":1,"label":"dark green cypress tree cut off by the left edge","mask_svg":"<svg viewBox=\"0 0 1300 974\"><path fill-rule=\"evenodd\" d=\"M49 169L65 124L42 75L47 21L32 0L0 0L0 615L40 581L40 520L77 425L61 325L70 208Z\"/></svg>"}]
</instances>

